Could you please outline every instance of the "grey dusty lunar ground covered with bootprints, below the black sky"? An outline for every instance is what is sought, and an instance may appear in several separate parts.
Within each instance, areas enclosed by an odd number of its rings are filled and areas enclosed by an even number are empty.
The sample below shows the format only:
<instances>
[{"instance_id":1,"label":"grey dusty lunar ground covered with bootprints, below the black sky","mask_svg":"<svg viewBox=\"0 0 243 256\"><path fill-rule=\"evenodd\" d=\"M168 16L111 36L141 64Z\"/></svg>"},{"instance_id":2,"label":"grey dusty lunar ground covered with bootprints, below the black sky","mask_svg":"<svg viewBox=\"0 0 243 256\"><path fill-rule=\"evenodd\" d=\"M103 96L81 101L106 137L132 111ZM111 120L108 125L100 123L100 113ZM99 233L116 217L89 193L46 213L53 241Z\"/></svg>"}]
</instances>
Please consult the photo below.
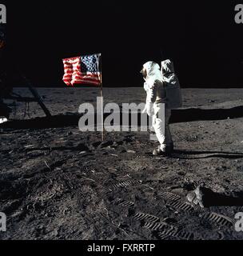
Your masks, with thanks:
<instances>
[{"instance_id":1,"label":"grey dusty lunar ground covered with bootprints, below the black sky","mask_svg":"<svg viewBox=\"0 0 243 256\"><path fill-rule=\"evenodd\" d=\"M173 110L175 151L153 157L149 132L78 130L78 106L98 88L38 88L10 101L0 125L0 239L243 239L243 89L183 89ZM27 89L16 94L31 96ZM105 104L145 102L142 88L104 88ZM209 190L201 208L187 200Z\"/></svg>"}]
</instances>

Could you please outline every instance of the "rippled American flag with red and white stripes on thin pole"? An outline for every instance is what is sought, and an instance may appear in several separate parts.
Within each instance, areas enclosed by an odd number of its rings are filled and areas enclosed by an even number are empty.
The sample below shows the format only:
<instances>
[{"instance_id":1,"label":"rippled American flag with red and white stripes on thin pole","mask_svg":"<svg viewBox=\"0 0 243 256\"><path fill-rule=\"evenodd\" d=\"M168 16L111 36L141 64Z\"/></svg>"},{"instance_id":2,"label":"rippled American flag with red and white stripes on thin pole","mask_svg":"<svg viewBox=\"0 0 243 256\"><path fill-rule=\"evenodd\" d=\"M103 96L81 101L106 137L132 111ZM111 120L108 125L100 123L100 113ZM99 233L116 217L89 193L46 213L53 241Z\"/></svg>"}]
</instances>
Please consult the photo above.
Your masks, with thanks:
<instances>
[{"instance_id":1,"label":"rippled American flag with red and white stripes on thin pole","mask_svg":"<svg viewBox=\"0 0 243 256\"><path fill-rule=\"evenodd\" d=\"M65 72L63 82L67 86L74 86L74 84L101 85L100 57L101 54L92 54L63 59Z\"/></svg>"}]
</instances>

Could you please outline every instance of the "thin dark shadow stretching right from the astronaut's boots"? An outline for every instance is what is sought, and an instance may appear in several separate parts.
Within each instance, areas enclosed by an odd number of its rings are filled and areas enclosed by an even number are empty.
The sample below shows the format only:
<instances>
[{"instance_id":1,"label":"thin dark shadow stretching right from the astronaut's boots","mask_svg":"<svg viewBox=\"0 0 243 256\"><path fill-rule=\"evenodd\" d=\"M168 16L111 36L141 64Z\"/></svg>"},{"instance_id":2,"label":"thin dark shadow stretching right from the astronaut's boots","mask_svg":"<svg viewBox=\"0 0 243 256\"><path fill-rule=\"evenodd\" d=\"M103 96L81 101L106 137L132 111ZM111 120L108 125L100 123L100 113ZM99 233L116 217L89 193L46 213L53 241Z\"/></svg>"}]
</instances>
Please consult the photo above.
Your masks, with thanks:
<instances>
[{"instance_id":1,"label":"thin dark shadow stretching right from the astronaut's boots","mask_svg":"<svg viewBox=\"0 0 243 256\"><path fill-rule=\"evenodd\" d=\"M189 157L189 156L192 156L192 157ZM224 151L203 151L203 150L201 150L201 151L198 151L198 150L195 150L195 151L193 151L193 150L173 150L173 154L171 157L179 158L179 159L187 159L187 160L189 160L189 159L192 159L192 160L193 159L205 159L205 158L240 159L240 158L243 158L243 153L224 152Z\"/></svg>"}]
</instances>

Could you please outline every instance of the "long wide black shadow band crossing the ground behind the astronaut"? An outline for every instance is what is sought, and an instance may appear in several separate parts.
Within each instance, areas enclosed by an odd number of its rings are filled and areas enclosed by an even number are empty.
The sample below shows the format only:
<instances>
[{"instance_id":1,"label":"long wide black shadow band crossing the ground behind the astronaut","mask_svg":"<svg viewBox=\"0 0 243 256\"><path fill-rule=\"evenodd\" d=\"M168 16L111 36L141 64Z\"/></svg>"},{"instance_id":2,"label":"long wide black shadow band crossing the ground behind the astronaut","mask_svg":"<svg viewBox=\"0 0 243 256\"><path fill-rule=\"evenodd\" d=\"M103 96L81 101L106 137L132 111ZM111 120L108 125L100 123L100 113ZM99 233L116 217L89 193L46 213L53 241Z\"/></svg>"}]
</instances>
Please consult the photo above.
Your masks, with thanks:
<instances>
[{"instance_id":1,"label":"long wide black shadow band crossing the ground behind the astronaut","mask_svg":"<svg viewBox=\"0 0 243 256\"><path fill-rule=\"evenodd\" d=\"M104 118L110 114L104 114ZM80 114L60 114L51 116L50 118L34 118L27 120L12 120L0 125L0 128L11 129L46 129L58 128L67 126L78 126ZM225 120L233 118L243 118L243 106L233 107L231 109L214 109L214 110L201 110L201 109L185 109L185 110L172 110L170 123L178 122L194 122L194 121L212 121L212 120ZM129 123L131 114L129 114ZM95 118L96 120L96 118ZM137 114L137 125L141 125L141 113ZM120 123L122 124L122 110L120 114ZM96 124L96 123L95 123Z\"/></svg>"}]
</instances>

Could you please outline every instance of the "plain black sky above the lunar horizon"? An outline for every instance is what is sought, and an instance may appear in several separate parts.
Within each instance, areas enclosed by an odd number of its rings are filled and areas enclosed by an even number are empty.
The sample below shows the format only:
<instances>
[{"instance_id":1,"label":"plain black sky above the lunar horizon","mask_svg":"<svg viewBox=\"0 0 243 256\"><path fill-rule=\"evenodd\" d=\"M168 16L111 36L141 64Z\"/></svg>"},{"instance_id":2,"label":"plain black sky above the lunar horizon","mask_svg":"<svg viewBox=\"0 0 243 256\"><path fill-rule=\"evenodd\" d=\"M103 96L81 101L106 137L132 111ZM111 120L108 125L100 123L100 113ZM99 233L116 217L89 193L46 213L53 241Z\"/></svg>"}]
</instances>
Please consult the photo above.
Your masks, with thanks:
<instances>
[{"instance_id":1,"label":"plain black sky above the lunar horizon","mask_svg":"<svg viewBox=\"0 0 243 256\"><path fill-rule=\"evenodd\" d=\"M181 86L243 86L239 1L19 1L7 6L13 81L62 82L62 58L102 53L104 86L141 86L141 65L171 58Z\"/></svg>"}]
</instances>

